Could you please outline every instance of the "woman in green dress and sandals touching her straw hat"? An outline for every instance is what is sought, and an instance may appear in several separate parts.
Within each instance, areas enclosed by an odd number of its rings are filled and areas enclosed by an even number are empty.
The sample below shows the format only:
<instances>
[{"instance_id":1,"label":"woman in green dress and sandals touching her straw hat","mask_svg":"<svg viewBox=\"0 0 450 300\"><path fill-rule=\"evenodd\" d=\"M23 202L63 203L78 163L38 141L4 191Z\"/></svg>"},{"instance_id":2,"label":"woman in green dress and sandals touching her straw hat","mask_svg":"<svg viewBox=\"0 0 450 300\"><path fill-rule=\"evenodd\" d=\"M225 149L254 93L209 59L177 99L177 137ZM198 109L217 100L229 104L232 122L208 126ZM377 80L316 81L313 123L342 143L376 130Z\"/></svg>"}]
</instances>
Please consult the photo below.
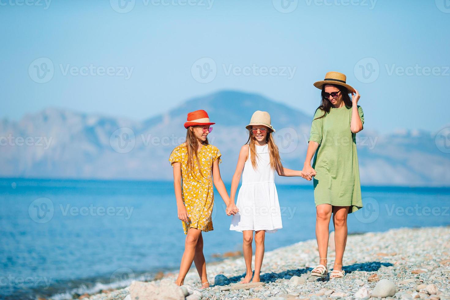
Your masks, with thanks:
<instances>
[{"instance_id":1,"label":"woman in green dress and sandals touching her straw hat","mask_svg":"<svg viewBox=\"0 0 450 300\"><path fill-rule=\"evenodd\" d=\"M322 90L322 102L314 114L302 170L303 178L314 179L315 233L320 262L312 270L313 276L328 275L329 222L333 215L336 258L330 279L344 277L342 257L347 242L347 215L363 206L356 133L363 129L364 115L357 105L360 94L347 85L346 79L342 73L329 72L325 80L314 84Z\"/></svg>"}]
</instances>

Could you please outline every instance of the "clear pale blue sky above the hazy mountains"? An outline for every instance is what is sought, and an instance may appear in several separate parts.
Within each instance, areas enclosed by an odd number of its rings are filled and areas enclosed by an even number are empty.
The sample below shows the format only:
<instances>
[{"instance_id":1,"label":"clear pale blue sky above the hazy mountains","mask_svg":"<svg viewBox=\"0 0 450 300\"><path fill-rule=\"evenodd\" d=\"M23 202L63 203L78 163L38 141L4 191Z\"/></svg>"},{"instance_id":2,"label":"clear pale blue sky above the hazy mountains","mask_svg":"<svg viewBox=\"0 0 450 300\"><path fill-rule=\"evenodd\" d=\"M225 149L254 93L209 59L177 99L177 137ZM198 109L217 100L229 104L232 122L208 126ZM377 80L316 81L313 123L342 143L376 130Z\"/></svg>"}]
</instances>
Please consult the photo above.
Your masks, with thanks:
<instances>
[{"instance_id":1,"label":"clear pale blue sky above the hazy mountains","mask_svg":"<svg viewBox=\"0 0 450 300\"><path fill-rule=\"evenodd\" d=\"M339 71L373 130L449 124L449 0L28 1L0 1L0 117L65 107L143 120L223 89L312 115L313 82ZM199 82L197 66L215 77Z\"/></svg>"}]
</instances>

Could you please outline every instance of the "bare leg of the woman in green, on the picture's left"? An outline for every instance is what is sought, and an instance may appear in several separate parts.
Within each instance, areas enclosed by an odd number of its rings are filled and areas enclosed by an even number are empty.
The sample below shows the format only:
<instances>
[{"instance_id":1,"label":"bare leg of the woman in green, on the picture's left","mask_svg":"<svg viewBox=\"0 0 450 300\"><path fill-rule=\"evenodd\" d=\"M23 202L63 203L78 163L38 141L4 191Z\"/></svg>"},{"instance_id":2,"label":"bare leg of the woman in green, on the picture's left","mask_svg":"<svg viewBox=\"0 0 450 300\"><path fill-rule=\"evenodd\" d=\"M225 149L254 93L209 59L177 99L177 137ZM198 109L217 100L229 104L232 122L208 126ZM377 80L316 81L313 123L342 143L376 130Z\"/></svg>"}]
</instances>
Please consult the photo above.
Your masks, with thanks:
<instances>
[{"instance_id":1,"label":"bare leg of the woman in green, on the picture's left","mask_svg":"<svg viewBox=\"0 0 450 300\"><path fill-rule=\"evenodd\" d=\"M321 259L319 264L323 264L326 267L327 260L324 260L324 258L327 258L328 255L329 226L333 206L330 204L320 204L315 209L315 238L317 239L319 258Z\"/></svg>"}]
</instances>

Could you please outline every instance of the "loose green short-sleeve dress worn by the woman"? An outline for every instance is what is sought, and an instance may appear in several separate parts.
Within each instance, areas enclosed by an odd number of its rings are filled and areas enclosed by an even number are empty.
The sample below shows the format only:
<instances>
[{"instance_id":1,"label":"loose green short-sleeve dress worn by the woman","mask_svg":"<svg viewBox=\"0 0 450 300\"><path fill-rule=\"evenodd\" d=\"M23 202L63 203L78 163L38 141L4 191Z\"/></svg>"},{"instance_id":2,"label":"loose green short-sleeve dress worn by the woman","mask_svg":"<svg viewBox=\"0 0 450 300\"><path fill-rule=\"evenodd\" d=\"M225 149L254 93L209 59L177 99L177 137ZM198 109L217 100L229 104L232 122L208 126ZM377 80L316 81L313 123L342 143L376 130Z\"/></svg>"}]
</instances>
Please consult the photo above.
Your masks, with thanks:
<instances>
[{"instance_id":1,"label":"loose green short-sleeve dress worn by the woman","mask_svg":"<svg viewBox=\"0 0 450 300\"><path fill-rule=\"evenodd\" d=\"M362 208L360 170L356 153L356 134L350 130L351 107L317 109L311 125L309 141L319 143L312 167L315 205L351 206L349 213ZM360 106L358 112L364 124Z\"/></svg>"}]
</instances>

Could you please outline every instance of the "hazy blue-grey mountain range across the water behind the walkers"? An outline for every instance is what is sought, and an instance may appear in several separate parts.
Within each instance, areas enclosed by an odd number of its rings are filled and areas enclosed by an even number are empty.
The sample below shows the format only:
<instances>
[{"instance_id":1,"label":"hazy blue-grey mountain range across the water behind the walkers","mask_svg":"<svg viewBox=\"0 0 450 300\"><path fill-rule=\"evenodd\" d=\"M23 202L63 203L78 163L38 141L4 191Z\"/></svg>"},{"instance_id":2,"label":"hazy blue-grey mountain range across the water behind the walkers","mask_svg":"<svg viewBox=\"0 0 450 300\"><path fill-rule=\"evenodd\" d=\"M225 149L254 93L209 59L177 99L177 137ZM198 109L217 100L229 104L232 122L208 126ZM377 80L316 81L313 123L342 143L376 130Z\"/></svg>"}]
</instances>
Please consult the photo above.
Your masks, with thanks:
<instances>
[{"instance_id":1,"label":"hazy blue-grey mountain range across the water behind the walkers","mask_svg":"<svg viewBox=\"0 0 450 300\"><path fill-rule=\"evenodd\" d=\"M255 110L270 112L284 165L302 167L312 115L258 94L221 91L142 122L62 108L47 108L18 122L3 119L0 176L171 179L168 157L184 140L186 113L201 108L217 123L209 138L222 153L225 181L231 180L239 149L247 141L244 127ZM405 131L381 136L370 131L366 120L357 136L362 184L450 185L450 154L439 150L436 134ZM278 182L310 184L303 179Z\"/></svg>"}]
</instances>

